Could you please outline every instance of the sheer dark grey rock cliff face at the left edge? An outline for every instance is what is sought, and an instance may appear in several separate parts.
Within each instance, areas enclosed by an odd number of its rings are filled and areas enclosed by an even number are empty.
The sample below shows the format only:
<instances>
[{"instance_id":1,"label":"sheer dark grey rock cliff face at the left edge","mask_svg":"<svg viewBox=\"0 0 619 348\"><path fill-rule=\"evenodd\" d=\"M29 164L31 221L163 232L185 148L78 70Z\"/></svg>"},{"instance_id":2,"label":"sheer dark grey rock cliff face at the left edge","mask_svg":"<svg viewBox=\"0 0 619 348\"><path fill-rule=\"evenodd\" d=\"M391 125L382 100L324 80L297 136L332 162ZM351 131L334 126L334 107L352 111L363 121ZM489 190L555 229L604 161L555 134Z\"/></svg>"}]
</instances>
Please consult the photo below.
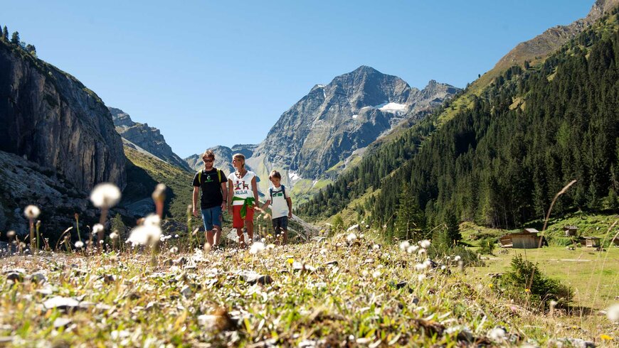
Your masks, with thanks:
<instances>
[{"instance_id":1,"label":"sheer dark grey rock cliff face at the left edge","mask_svg":"<svg viewBox=\"0 0 619 348\"><path fill-rule=\"evenodd\" d=\"M95 93L4 42L0 67L0 151L53 168L80 190L125 186L122 141Z\"/></svg>"}]
</instances>

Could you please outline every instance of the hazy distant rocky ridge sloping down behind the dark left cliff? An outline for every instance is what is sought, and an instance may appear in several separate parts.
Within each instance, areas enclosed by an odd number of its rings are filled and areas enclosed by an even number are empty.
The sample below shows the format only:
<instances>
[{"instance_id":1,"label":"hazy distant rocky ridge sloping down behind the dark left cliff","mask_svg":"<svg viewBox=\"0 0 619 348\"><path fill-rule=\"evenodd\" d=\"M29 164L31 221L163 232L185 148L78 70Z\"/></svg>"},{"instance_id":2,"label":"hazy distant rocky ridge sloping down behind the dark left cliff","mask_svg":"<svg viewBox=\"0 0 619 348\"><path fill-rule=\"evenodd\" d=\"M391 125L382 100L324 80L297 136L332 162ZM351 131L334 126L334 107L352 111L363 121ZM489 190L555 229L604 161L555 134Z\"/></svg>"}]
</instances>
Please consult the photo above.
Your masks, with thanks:
<instances>
[{"instance_id":1,"label":"hazy distant rocky ridge sloping down behind the dark left cliff","mask_svg":"<svg viewBox=\"0 0 619 348\"><path fill-rule=\"evenodd\" d=\"M148 124L132 121L131 116L121 109L114 107L109 109L116 126L116 131L122 138L127 139L130 143L139 146L139 148L148 151L153 156L171 165L191 170L189 165L172 151L159 129L150 127ZM127 144L127 146L131 145Z\"/></svg>"}]
</instances>

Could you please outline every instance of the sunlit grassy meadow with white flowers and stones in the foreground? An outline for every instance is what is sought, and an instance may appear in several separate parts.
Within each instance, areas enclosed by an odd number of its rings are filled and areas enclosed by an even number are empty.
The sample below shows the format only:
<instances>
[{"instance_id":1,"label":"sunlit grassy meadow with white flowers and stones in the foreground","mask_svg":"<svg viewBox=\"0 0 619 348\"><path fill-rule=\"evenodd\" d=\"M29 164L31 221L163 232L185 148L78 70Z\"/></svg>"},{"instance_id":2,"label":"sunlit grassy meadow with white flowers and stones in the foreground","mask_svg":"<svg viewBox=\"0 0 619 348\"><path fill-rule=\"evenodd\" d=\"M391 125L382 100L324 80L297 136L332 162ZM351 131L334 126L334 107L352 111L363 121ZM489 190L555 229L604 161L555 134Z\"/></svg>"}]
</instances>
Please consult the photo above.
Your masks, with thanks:
<instances>
[{"instance_id":1,"label":"sunlit grassy meadow with white flowers and stones in the foreground","mask_svg":"<svg viewBox=\"0 0 619 348\"><path fill-rule=\"evenodd\" d=\"M184 242L164 239L154 256L139 247L120 254L43 251L4 259L0 342L14 347L544 347L585 339L613 347L618 339L618 326L598 315L616 292L618 249L593 255L559 248L527 251L544 272L563 271L564 280L574 282L576 304L596 308L583 314L540 311L488 286L487 273L507 267L514 251L490 256L487 267L462 268L457 255L424 266L423 247L408 253L381 243L371 231L288 246L265 240L263 249L208 253L184 251ZM591 261L554 261L564 258ZM599 272L589 271L602 265Z\"/></svg>"}]
</instances>

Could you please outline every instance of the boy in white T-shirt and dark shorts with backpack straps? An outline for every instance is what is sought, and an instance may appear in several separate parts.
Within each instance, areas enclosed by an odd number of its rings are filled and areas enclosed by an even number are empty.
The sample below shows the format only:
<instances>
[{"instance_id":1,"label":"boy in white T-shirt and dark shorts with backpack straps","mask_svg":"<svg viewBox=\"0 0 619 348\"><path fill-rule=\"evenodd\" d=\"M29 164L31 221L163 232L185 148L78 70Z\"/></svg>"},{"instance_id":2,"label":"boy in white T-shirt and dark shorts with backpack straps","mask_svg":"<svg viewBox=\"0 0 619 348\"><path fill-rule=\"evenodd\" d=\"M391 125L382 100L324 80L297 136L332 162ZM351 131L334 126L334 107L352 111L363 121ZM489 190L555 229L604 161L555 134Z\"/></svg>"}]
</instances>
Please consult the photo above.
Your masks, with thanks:
<instances>
[{"instance_id":1,"label":"boy in white T-shirt and dark shorts with backpack straps","mask_svg":"<svg viewBox=\"0 0 619 348\"><path fill-rule=\"evenodd\" d=\"M273 219L273 229L275 229L275 235L282 231L284 242L288 241L288 219L292 219L292 199L286 187L280 182L282 181L282 175L277 170L273 170L269 174L269 180L273 183L273 186L269 187L269 199L263 205L263 210L270 204L271 218Z\"/></svg>"}]
</instances>

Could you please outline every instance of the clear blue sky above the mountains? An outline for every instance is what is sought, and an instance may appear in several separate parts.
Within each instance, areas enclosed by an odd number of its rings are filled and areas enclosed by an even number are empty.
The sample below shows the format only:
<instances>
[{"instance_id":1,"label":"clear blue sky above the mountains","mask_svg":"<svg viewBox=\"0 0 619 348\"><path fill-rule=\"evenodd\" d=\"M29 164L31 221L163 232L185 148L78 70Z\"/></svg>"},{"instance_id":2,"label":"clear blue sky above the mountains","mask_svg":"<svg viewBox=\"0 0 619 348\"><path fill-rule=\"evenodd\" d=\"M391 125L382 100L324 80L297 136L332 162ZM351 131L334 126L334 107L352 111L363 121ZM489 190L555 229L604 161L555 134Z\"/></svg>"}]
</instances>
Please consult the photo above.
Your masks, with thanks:
<instances>
[{"instance_id":1,"label":"clear blue sky above the mountains","mask_svg":"<svg viewBox=\"0 0 619 348\"><path fill-rule=\"evenodd\" d=\"M359 65L464 87L590 1L8 1L0 24L181 157L258 143Z\"/></svg>"}]
</instances>

